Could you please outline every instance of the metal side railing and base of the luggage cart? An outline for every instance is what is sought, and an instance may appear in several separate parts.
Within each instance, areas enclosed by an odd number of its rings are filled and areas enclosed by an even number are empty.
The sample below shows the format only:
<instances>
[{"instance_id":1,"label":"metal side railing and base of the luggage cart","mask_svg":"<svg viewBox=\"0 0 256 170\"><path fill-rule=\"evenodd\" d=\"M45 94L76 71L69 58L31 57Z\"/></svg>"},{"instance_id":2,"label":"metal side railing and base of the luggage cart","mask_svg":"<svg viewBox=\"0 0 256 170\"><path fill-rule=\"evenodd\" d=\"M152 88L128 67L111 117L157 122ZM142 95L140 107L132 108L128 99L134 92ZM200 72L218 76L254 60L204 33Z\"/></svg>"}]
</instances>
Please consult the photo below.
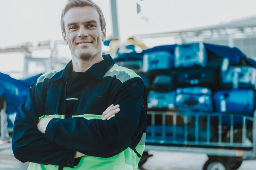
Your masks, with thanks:
<instances>
[{"instance_id":1,"label":"metal side railing and base of the luggage cart","mask_svg":"<svg viewBox=\"0 0 256 170\"><path fill-rule=\"evenodd\" d=\"M207 154L210 158L215 156L232 158L233 162L243 161L243 160L255 160L256 159L256 111L253 117L241 116L243 119L242 125L242 141L241 143L234 142L234 125L233 125L233 114L227 113L179 113L172 111L148 111L148 115L151 115L151 133L150 136L146 138L145 151L158 150L158 151L170 151L170 152L187 152L187 153L203 153ZM156 115L162 116L162 136L156 138L154 128ZM177 140L177 116L183 116L184 118L184 140ZM166 138L166 116L173 116L172 119L172 138ZM188 141L188 116L195 116L195 140ZM199 141L199 117L205 116L207 118L207 141ZM210 126L211 117L218 117L218 141L210 141ZM230 142L222 142L222 122L221 118L223 116L229 116L231 120L230 125ZM237 115L236 115L237 116ZM252 122L251 132L252 142L247 144L247 121ZM159 132L157 132L159 133Z\"/></svg>"}]
</instances>

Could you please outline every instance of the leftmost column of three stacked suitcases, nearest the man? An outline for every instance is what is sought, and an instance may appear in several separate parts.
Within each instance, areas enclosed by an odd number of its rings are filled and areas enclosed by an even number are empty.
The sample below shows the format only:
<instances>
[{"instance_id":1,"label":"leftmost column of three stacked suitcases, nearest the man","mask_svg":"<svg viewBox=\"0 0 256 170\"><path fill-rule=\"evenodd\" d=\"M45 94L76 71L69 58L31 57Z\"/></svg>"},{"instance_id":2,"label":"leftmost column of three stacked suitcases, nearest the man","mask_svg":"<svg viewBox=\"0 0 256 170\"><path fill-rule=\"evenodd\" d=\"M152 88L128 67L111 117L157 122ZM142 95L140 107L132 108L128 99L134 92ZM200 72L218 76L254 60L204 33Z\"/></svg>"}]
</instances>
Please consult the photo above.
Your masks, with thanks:
<instances>
[{"instance_id":1,"label":"leftmost column of three stacked suitcases, nearest the man","mask_svg":"<svg viewBox=\"0 0 256 170\"><path fill-rule=\"evenodd\" d=\"M166 111L173 109L175 102L175 83L173 80L173 54L168 45L158 49L145 50L143 55L143 72L148 74L150 90L148 108Z\"/></svg>"}]
</instances>

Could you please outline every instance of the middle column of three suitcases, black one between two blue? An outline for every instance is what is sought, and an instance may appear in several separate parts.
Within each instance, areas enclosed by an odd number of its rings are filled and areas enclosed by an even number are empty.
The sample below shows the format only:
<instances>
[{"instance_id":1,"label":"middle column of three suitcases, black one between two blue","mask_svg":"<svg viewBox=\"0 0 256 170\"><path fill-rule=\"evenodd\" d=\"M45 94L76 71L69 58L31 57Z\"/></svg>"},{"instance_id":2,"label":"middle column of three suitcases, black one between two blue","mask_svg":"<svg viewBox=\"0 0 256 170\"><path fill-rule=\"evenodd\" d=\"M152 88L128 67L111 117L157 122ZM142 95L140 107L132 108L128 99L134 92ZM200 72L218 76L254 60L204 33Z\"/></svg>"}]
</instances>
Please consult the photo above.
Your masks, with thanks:
<instances>
[{"instance_id":1,"label":"middle column of three suitcases, black one between two blue","mask_svg":"<svg viewBox=\"0 0 256 170\"><path fill-rule=\"evenodd\" d=\"M175 105L183 112L212 112L212 90L216 87L216 70L207 68L203 43L177 45L175 48L177 88Z\"/></svg>"}]
</instances>

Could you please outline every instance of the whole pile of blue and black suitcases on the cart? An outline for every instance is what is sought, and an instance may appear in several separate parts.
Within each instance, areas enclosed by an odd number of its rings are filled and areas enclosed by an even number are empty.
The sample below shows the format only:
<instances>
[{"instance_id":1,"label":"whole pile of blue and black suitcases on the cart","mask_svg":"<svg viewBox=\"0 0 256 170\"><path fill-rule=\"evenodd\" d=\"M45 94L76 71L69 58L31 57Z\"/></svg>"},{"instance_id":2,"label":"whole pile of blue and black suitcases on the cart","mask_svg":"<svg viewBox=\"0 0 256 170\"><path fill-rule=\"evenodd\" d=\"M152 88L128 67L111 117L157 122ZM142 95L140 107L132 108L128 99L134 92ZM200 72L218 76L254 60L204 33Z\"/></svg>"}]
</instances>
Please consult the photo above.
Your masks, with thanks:
<instances>
[{"instance_id":1,"label":"whole pile of blue and black suitcases on the cart","mask_svg":"<svg viewBox=\"0 0 256 170\"><path fill-rule=\"evenodd\" d=\"M212 48L228 52L212 53ZM256 69L230 49L196 42L144 54L143 71L151 84L148 110L233 114L233 120L231 116L222 116L221 124L241 127L242 116L253 116L255 111ZM211 119L212 140L213 133L218 132L218 120ZM195 116L189 117L189 123L188 137L194 139ZM206 141L206 135L200 135L206 134L206 130L206 126L199 127L200 141Z\"/></svg>"}]
</instances>

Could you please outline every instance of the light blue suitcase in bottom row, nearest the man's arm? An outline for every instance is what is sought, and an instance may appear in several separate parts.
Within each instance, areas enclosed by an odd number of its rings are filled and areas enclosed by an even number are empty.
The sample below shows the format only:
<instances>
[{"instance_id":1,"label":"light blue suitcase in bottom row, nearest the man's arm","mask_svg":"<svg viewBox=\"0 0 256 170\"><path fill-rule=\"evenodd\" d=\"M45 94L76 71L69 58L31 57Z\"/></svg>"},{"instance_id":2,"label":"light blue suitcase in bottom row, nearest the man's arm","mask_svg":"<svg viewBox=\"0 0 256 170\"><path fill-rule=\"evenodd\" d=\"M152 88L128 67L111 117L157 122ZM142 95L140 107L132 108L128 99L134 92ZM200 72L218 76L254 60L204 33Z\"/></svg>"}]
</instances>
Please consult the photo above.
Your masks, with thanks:
<instances>
[{"instance_id":1,"label":"light blue suitcase in bottom row, nearest the man's arm","mask_svg":"<svg viewBox=\"0 0 256 170\"><path fill-rule=\"evenodd\" d=\"M148 110L168 110L175 108L175 91L157 92L149 91L148 93Z\"/></svg>"}]
</instances>

